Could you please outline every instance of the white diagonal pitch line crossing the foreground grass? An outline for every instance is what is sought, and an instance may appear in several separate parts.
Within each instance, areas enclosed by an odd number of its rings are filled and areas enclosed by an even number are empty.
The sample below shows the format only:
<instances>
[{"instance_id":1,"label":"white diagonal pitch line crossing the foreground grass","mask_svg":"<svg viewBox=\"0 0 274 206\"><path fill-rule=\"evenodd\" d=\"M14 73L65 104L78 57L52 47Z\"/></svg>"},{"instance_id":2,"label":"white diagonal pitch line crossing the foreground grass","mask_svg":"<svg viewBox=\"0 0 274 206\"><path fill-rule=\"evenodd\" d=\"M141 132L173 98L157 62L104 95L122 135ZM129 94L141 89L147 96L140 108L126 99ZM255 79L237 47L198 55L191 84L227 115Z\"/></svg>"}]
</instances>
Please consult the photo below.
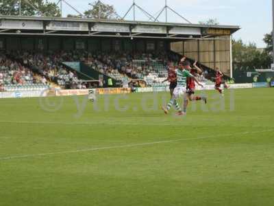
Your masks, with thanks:
<instances>
[{"instance_id":1,"label":"white diagonal pitch line crossing the foreground grass","mask_svg":"<svg viewBox=\"0 0 274 206\"><path fill-rule=\"evenodd\" d=\"M68 150L63 152L49 152L49 153L41 153L41 154L33 154L33 155L17 155L17 156L10 156L10 157L0 157L1 160L9 160L9 159L23 159L28 157L43 157L48 155L63 155L63 154L72 154L72 153L79 153L79 152L92 152L92 151L98 151L98 150L111 150L111 149L119 149L119 148L132 148L132 147L138 147L138 146L149 146L154 144L164 144L164 143L175 143L178 141L188 141L188 140L195 140L195 139L211 139L216 137L229 137L233 135L248 135L253 133L267 133L271 132L274 129L271 130L260 130L260 131L254 131L254 132L245 132L245 133L233 133L233 134L227 134L227 135L214 135L214 136L208 136L208 137L195 137L195 138L188 138L188 139L174 139L174 140L166 140L166 141L152 141L147 143L139 143L139 144L127 144L122 146L110 146L110 147L103 147L103 148L89 148L89 149L83 149L83 150Z\"/></svg>"}]
</instances>

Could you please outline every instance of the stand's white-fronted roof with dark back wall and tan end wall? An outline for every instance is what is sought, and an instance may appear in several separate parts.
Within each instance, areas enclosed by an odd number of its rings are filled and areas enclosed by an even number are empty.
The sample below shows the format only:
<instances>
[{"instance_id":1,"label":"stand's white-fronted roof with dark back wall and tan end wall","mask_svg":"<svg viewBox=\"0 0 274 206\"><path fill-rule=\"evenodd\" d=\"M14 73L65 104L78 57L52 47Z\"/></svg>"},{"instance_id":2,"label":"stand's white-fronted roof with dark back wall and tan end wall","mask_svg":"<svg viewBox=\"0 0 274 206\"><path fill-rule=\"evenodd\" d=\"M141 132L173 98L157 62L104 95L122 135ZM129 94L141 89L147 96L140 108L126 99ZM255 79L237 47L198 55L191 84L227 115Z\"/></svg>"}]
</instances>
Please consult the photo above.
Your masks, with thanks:
<instances>
[{"instance_id":1,"label":"stand's white-fronted roof with dark back wall and tan end wall","mask_svg":"<svg viewBox=\"0 0 274 206\"><path fill-rule=\"evenodd\" d=\"M0 50L169 50L232 76L231 25L0 16Z\"/></svg>"}]
</instances>

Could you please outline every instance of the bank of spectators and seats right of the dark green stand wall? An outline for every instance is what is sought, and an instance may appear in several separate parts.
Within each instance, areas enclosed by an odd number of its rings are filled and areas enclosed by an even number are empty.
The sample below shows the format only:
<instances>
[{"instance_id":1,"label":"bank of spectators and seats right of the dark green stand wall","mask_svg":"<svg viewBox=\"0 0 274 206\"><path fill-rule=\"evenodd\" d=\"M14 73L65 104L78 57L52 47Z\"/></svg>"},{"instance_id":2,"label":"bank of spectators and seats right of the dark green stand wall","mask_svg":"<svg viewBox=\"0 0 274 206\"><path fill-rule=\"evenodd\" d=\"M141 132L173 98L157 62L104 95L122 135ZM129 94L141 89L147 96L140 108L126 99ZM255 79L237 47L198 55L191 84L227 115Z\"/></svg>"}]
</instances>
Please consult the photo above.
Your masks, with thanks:
<instances>
[{"instance_id":1,"label":"bank of spectators and seats right of the dark green stand wall","mask_svg":"<svg viewBox=\"0 0 274 206\"><path fill-rule=\"evenodd\" d=\"M87 53L83 57L86 65L116 80L128 78L145 80L150 86L166 86L162 83L167 76L167 63L175 61L168 53Z\"/></svg>"}]
</instances>

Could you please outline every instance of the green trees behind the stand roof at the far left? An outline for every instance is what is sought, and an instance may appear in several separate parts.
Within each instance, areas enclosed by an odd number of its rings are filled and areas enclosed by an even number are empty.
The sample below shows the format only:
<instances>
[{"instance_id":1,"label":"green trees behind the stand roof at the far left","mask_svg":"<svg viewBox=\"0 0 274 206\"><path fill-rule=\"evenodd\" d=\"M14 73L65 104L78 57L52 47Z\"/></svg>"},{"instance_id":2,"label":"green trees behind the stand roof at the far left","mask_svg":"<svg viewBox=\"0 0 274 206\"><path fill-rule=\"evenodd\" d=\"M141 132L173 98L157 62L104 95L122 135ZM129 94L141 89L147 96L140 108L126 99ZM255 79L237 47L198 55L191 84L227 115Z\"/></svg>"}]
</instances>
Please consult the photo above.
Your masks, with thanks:
<instances>
[{"instance_id":1,"label":"green trees behind the stand roof at the far left","mask_svg":"<svg viewBox=\"0 0 274 206\"><path fill-rule=\"evenodd\" d=\"M19 15L18 0L2 0L1 15ZM56 3L48 0L21 0L21 14L23 16L61 16Z\"/></svg>"}]
</instances>

